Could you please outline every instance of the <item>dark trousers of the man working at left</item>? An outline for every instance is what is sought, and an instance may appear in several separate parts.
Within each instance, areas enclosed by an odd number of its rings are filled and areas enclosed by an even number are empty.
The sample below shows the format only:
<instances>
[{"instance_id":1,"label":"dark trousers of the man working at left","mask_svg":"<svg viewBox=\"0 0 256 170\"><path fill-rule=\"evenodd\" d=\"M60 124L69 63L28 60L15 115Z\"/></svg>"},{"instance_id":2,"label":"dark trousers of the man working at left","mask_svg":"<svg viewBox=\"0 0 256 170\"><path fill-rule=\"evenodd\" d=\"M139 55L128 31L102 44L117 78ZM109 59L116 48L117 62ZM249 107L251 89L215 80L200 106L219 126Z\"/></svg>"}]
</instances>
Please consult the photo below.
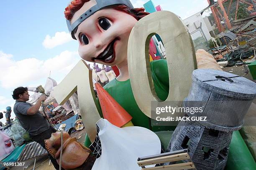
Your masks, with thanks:
<instances>
[{"instance_id":1,"label":"dark trousers of the man working at left","mask_svg":"<svg viewBox=\"0 0 256 170\"><path fill-rule=\"evenodd\" d=\"M36 136L30 135L30 138L33 141L39 143L44 149L46 149L45 144L44 144L44 140L51 138L51 133L55 133L55 132L56 132L56 130L52 126L50 126L50 128L48 130L45 130L44 132L42 132L42 133L40 133ZM51 156L51 154L49 154L49 153L48 153L48 156L51 160L51 163L54 165L54 168L56 170L59 170L59 164L57 163L56 159L54 159Z\"/></svg>"}]
</instances>

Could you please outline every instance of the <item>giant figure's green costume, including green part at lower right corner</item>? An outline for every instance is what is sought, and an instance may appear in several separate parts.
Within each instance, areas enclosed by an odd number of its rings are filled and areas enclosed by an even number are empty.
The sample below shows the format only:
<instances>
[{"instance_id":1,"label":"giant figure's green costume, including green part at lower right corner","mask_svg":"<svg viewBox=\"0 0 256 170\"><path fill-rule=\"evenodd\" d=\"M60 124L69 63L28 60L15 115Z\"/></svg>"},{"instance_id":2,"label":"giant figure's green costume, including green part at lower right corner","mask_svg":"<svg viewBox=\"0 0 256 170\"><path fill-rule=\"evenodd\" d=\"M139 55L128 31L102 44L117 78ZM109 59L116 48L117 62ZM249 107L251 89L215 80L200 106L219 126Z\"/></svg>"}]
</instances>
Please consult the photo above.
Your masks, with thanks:
<instances>
[{"instance_id":1,"label":"giant figure's green costume, including green part at lower right corner","mask_svg":"<svg viewBox=\"0 0 256 170\"><path fill-rule=\"evenodd\" d=\"M150 66L156 94L158 95L159 99L166 100L169 93L169 75L167 62L166 60L154 60L150 63ZM172 132L169 131L167 133L164 133L164 131L166 132L166 130L174 130L174 128L172 126L151 127L150 118L147 117L143 112L141 112L134 99L130 79L123 82L114 79L110 81L107 85L105 85L104 89L133 117L133 125L148 128L156 132L156 134L159 136L161 140L161 143L163 143L164 148L167 147L166 145L168 145L170 141ZM141 92L143 92L143 90ZM102 115L102 113L100 114ZM239 132L234 133L231 144L241 143L241 138L239 138L239 140L238 138L236 138L236 136L238 135L237 133ZM84 145L86 147L89 147L90 144L90 140L86 136ZM240 167L241 165L238 166L236 165L236 162L234 162L234 160L240 159L240 157L251 158L251 153L248 151L246 145L243 145L243 148L240 148L239 150L237 150L235 145L230 145L230 153L232 153L232 158L228 160L228 169L230 169L231 167L233 167L234 169L236 167ZM253 163L253 161L253 159L249 159L247 160L247 163L243 164L243 166L245 168L254 168L255 162Z\"/></svg>"}]
</instances>

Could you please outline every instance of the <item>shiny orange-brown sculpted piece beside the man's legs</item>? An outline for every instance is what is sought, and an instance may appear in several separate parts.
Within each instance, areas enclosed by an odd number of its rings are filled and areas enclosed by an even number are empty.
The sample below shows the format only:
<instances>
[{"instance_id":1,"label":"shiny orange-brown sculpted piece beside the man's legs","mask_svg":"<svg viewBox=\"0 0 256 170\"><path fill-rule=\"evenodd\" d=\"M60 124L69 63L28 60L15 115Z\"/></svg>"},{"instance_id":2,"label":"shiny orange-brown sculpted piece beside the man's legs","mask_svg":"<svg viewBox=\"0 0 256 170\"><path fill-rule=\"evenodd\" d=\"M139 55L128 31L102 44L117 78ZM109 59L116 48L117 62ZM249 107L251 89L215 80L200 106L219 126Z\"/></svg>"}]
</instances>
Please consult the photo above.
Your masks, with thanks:
<instances>
[{"instance_id":1,"label":"shiny orange-brown sculpted piece beside the man's legs","mask_svg":"<svg viewBox=\"0 0 256 170\"><path fill-rule=\"evenodd\" d=\"M61 133L51 134L51 138L44 140L46 149L59 163L61 152ZM91 150L78 143L76 138L71 138L67 132L63 132L63 150L61 167L64 169L74 169L83 165L90 157Z\"/></svg>"}]
</instances>

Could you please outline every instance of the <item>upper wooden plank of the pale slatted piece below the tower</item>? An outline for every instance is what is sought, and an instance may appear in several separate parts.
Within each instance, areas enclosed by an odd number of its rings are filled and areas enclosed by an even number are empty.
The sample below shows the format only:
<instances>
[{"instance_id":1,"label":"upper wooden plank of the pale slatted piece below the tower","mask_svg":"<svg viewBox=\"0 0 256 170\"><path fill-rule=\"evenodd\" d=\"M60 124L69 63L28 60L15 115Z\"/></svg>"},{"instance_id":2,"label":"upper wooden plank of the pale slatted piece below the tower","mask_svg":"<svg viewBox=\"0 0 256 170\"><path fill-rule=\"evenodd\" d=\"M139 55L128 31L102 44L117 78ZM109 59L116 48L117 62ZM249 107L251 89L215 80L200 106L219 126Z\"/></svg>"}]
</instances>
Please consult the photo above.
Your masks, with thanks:
<instances>
[{"instance_id":1,"label":"upper wooden plank of the pale slatted piece below the tower","mask_svg":"<svg viewBox=\"0 0 256 170\"><path fill-rule=\"evenodd\" d=\"M141 160L138 161L139 166L146 166L146 165L154 165L158 163L168 163L168 162L174 162L178 160L187 160L189 159L189 155L187 153L180 153L176 155L169 155L165 157L160 158L153 158L148 160Z\"/></svg>"}]
</instances>

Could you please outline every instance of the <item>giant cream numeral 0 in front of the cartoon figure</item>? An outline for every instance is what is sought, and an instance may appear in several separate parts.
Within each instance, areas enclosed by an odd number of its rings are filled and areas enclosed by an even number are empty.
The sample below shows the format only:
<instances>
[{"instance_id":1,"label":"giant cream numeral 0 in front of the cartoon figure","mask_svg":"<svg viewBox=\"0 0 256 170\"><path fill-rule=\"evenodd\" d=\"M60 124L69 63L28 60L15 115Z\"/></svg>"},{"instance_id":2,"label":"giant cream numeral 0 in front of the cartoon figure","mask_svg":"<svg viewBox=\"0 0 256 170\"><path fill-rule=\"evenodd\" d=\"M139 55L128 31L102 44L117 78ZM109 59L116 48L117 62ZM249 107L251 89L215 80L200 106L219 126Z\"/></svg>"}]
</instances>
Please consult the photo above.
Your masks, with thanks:
<instances>
[{"instance_id":1,"label":"giant cream numeral 0 in front of the cartoon figure","mask_svg":"<svg viewBox=\"0 0 256 170\"><path fill-rule=\"evenodd\" d=\"M173 107L180 105L187 97L192 71L197 68L192 39L177 15L159 11L139 20L129 37L128 67L133 95L138 107L148 117L151 117L152 101L167 104L156 95L148 59L149 42L156 33L163 40L166 50L169 70L169 95L166 101L177 101L172 102Z\"/></svg>"}]
</instances>

